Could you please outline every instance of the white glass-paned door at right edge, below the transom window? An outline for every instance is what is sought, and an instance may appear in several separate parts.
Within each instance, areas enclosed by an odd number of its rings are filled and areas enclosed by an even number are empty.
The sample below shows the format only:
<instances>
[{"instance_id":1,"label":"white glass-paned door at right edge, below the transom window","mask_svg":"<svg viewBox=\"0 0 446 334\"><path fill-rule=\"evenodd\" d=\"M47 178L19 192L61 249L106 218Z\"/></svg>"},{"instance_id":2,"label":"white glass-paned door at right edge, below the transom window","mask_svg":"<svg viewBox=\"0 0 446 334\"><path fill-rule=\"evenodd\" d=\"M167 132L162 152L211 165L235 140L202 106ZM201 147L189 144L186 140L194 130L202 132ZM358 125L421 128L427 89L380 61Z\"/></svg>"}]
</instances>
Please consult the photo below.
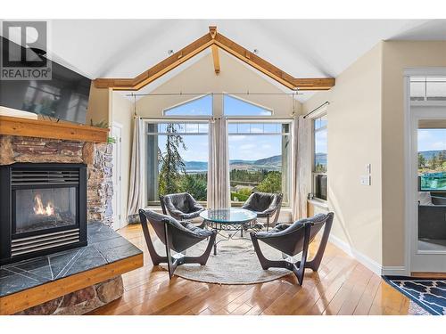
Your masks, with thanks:
<instances>
[{"instance_id":1,"label":"white glass-paned door at right edge, below the transom window","mask_svg":"<svg viewBox=\"0 0 446 334\"><path fill-rule=\"evenodd\" d=\"M446 107L412 115L410 270L446 273Z\"/></svg>"}]
</instances>

